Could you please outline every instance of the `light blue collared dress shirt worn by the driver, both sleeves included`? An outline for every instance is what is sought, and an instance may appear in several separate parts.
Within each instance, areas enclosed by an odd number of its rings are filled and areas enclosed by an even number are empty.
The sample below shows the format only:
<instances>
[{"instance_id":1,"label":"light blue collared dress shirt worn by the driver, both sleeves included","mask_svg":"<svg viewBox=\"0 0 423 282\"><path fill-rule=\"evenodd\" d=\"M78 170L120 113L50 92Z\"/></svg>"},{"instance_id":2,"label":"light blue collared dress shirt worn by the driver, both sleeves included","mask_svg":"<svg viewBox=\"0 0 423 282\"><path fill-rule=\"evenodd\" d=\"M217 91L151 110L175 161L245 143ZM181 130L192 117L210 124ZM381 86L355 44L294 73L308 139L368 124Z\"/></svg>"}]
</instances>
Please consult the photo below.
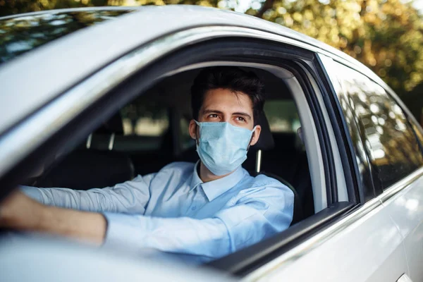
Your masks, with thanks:
<instances>
[{"instance_id":1,"label":"light blue collared dress shirt worn by the driver, both sleeves included","mask_svg":"<svg viewBox=\"0 0 423 282\"><path fill-rule=\"evenodd\" d=\"M154 248L198 262L281 232L293 218L293 192L274 178L252 177L241 166L207 183L195 164L176 162L114 187L21 189L43 204L101 212L108 223L106 245Z\"/></svg>"}]
</instances>

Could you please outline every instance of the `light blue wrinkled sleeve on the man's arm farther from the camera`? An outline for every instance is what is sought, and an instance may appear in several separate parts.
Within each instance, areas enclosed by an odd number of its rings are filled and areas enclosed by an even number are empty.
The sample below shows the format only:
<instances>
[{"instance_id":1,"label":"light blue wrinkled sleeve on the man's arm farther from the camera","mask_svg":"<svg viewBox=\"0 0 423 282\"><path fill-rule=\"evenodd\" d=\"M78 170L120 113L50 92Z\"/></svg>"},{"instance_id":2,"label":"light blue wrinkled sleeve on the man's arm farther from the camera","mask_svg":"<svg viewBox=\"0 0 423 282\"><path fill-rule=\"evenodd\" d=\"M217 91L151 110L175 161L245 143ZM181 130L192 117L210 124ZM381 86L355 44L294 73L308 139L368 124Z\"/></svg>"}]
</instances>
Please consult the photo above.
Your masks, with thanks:
<instances>
[{"instance_id":1,"label":"light blue wrinkled sleeve on the man's arm farther from the camera","mask_svg":"<svg viewBox=\"0 0 423 282\"><path fill-rule=\"evenodd\" d=\"M35 188L20 190L42 204L87 212L130 212L144 214L150 197L149 184L156 173L137 176L113 187L72 190L68 188Z\"/></svg>"}]
</instances>

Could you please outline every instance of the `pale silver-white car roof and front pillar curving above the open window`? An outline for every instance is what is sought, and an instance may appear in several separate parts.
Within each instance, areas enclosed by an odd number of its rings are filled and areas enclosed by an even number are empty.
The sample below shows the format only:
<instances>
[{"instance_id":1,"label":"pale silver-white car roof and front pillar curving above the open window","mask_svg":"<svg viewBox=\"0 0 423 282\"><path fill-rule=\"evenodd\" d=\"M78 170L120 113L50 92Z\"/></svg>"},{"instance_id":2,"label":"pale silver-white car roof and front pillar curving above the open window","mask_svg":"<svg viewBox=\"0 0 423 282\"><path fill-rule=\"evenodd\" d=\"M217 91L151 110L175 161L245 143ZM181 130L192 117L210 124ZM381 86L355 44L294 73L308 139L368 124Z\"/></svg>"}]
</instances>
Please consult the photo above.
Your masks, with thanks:
<instances>
[{"instance_id":1,"label":"pale silver-white car roof and front pillar curving above the open window","mask_svg":"<svg viewBox=\"0 0 423 282\"><path fill-rule=\"evenodd\" d=\"M96 9L103 8L62 9L24 16ZM136 10L115 20L85 27L2 64L0 134L111 61L178 30L210 25L248 27L290 37L351 60L343 52L312 37L242 13L185 5L142 6Z\"/></svg>"}]
</instances>

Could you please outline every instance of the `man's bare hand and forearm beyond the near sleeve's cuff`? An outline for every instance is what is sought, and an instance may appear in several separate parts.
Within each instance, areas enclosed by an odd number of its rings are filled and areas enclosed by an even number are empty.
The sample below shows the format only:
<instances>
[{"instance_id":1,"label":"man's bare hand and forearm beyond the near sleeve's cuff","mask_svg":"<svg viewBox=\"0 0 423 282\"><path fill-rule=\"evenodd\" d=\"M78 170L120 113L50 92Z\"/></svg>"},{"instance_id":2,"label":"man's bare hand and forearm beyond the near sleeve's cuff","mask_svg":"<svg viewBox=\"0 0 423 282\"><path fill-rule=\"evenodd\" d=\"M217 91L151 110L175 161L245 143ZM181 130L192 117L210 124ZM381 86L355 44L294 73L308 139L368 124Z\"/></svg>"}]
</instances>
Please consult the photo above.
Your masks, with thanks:
<instances>
[{"instance_id":1,"label":"man's bare hand and forearm beyond the near sleeve's cuff","mask_svg":"<svg viewBox=\"0 0 423 282\"><path fill-rule=\"evenodd\" d=\"M100 245L106 219L98 213L45 206L18 191L0 203L0 228L64 235Z\"/></svg>"}]
</instances>

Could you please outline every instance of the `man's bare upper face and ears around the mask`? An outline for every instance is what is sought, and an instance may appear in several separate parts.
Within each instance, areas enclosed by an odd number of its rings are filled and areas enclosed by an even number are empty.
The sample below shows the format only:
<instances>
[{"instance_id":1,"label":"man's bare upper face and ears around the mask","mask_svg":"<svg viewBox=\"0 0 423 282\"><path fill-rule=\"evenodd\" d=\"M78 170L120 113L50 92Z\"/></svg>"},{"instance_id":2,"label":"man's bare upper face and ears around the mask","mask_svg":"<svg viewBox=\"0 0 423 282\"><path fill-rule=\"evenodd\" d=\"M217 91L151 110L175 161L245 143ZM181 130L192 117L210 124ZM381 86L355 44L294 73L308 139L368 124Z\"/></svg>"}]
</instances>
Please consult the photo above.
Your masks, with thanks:
<instances>
[{"instance_id":1,"label":"man's bare upper face and ears around the mask","mask_svg":"<svg viewBox=\"0 0 423 282\"><path fill-rule=\"evenodd\" d=\"M200 123L228 122L231 125L252 130L254 128L252 101L247 94L242 92L235 93L223 88L209 90L204 95L204 101L198 114L198 121ZM260 131L260 125L257 125L250 145L257 143ZM194 121L191 121L190 135L193 139L197 139L197 134L197 126Z\"/></svg>"}]
</instances>

